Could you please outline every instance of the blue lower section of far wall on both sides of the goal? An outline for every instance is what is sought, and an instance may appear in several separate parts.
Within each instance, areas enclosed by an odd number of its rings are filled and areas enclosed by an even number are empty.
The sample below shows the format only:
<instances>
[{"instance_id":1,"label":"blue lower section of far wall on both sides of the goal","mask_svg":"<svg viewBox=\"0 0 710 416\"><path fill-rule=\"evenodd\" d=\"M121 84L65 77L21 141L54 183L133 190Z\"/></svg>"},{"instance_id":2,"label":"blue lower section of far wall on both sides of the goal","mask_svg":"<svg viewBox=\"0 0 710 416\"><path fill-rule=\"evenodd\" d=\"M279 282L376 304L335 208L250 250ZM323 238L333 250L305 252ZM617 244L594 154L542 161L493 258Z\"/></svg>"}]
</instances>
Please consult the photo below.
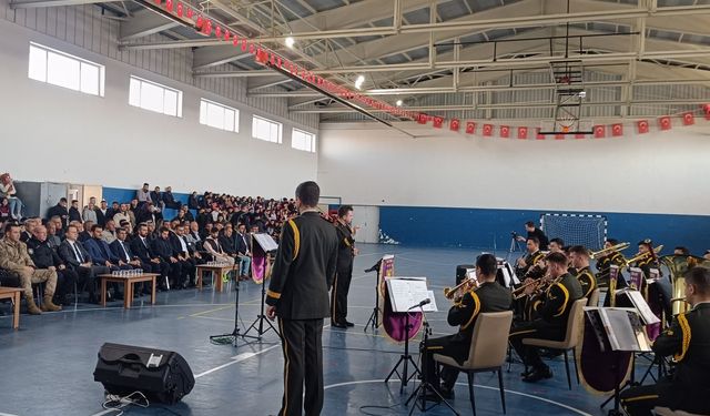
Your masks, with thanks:
<instances>
[{"instance_id":1,"label":"blue lower section of far wall on both sides of the goal","mask_svg":"<svg viewBox=\"0 0 710 416\"><path fill-rule=\"evenodd\" d=\"M379 227L389 237L405 245L457 246L496 250L510 247L510 232L525 235L524 223L539 223L540 214L551 211L446 209L382 206ZM663 244L663 253L676 245L686 245L694 254L710 248L710 216L629 213L601 214L608 221L608 236L636 244L650 237ZM551 235L550 237L554 237Z\"/></svg>"}]
</instances>

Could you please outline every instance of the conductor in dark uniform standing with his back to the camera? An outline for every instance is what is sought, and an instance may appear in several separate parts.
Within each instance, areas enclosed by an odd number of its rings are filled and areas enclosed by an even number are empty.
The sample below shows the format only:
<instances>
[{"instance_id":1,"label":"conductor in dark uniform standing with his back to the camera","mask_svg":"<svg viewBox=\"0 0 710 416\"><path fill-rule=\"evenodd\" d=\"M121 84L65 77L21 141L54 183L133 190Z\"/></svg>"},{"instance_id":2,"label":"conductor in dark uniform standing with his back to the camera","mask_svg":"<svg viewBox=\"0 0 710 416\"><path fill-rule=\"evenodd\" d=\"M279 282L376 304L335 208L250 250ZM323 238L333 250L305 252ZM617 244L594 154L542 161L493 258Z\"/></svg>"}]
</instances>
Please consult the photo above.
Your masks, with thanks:
<instances>
[{"instance_id":1,"label":"conductor in dark uniform standing with his back to the camera","mask_svg":"<svg viewBox=\"0 0 710 416\"><path fill-rule=\"evenodd\" d=\"M315 182L296 187L301 215L283 226L266 293L266 315L278 316L284 354L284 396L278 416L320 415L323 408L323 319L335 277L337 235L317 210ZM304 403L305 382L305 403Z\"/></svg>"}]
</instances>

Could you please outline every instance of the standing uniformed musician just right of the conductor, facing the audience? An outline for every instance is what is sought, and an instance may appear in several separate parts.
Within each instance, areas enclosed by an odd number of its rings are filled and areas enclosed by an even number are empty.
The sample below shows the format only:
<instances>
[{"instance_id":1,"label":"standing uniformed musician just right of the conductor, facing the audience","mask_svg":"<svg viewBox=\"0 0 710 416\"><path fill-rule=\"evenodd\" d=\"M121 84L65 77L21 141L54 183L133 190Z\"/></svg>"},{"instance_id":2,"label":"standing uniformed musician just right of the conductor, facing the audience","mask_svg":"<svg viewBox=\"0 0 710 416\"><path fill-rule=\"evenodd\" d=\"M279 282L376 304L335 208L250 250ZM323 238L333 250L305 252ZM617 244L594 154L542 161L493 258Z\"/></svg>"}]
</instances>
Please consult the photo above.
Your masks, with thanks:
<instances>
[{"instance_id":1,"label":"standing uniformed musician just right of the conductor, facing the audience","mask_svg":"<svg viewBox=\"0 0 710 416\"><path fill-rule=\"evenodd\" d=\"M353 260L357 254L355 230L352 227L352 223L353 206L341 206L337 210L337 221L335 222L338 239L337 268L335 283L333 283L331 291L331 326L336 328L353 326L353 323L347 321L347 293L353 280Z\"/></svg>"}]
</instances>

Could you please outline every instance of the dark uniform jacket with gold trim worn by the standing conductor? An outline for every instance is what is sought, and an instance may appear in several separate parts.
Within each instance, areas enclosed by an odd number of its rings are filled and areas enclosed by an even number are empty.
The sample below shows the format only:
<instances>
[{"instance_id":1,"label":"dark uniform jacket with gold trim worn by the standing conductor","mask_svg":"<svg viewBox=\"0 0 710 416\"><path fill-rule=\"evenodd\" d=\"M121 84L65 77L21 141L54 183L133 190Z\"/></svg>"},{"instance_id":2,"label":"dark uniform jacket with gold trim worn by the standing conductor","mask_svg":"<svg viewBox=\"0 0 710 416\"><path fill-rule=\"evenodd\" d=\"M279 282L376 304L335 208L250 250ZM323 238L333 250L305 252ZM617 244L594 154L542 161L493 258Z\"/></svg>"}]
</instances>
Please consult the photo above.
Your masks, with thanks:
<instances>
[{"instance_id":1,"label":"dark uniform jacket with gold trim worn by the standing conductor","mask_svg":"<svg viewBox=\"0 0 710 416\"><path fill-rule=\"evenodd\" d=\"M317 212L304 212L284 224L266 304L286 319L328 317L337 246L335 227Z\"/></svg>"}]
</instances>

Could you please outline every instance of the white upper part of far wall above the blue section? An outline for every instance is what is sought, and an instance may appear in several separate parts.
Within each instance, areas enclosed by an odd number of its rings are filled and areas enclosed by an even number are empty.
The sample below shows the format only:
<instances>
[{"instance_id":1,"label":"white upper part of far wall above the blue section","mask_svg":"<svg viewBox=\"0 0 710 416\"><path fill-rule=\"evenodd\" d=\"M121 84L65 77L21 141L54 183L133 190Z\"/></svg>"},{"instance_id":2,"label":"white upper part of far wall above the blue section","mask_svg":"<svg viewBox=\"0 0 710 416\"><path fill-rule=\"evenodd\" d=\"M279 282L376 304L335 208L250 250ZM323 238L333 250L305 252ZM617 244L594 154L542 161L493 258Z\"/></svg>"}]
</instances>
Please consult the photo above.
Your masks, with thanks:
<instances>
[{"instance_id":1,"label":"white upper part of far wall above the blue section","mask_svg":"<svg viewBox=\"0 0 710 416\"><path fill-rule=\"evenodd\" d=\"M349 204L707 215L710 122L696 120L670 132L565 141L402 124L418 135L409 139L375 123L322 123L318 181Z\"/></svg>"}]
</instances>

